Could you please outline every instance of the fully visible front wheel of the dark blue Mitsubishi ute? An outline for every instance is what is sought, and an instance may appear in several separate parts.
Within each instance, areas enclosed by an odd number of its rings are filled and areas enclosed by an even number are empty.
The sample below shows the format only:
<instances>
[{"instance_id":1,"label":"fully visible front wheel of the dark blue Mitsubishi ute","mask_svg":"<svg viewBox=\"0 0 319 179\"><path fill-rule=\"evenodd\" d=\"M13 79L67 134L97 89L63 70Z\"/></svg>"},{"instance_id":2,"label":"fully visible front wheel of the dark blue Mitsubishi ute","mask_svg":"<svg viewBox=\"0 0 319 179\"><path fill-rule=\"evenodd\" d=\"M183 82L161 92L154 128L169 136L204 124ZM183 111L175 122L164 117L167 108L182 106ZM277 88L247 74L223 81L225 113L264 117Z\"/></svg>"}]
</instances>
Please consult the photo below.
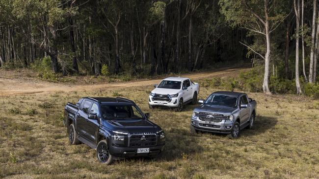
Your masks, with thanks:
<instances>
[{"instance_id":1,"label":"fully visible front wheel of the dark blue Mitsubishi ute","mask_svg":"<svg viewBox=\"0 0 319 179\"><path fill-rule=\"evenodd\" d=\"M109 165L113 162L113 156L109 154L106 140L101 140L96 148L96 156L101 163Z\"/></svg>"}]
</instances>

